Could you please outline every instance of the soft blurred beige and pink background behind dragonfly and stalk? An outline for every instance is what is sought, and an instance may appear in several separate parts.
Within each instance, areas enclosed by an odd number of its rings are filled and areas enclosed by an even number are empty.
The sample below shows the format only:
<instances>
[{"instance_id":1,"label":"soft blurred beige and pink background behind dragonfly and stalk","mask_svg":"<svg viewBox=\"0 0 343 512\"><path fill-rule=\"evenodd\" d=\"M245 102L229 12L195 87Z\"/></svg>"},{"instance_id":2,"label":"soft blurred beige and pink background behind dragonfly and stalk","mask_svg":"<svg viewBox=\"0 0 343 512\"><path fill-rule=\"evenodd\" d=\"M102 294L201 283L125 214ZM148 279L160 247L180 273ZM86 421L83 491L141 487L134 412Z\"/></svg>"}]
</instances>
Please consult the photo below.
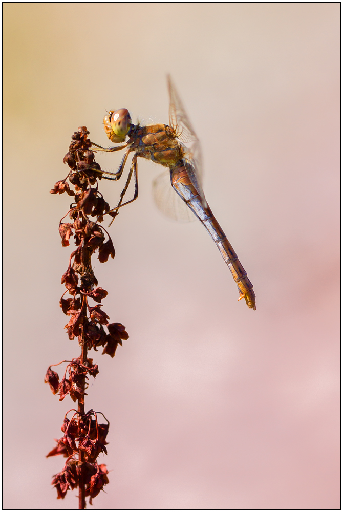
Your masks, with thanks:
<instances>
[{"instance_id":1,"label":"soft blurred beige and pink background behind dragonfly and stalk","mask_svg":"<svg viewBox=\"0 0 343 512\"><path fill-rule=\"evenodd\" d=\"M45 459L73 404L44 374L79 354L58 307L70 198L49 190L78 126L106 144L105 109L167 122L167 72L257 311L200 223L159 214L140 161L95 264L130 339L93 353L86 406L111 421L94 508L339 508L339 3L5 3L4 30L4 508L77 508ZM121 185L101 183L111 204Z\"/></svg>"}]
</instances>

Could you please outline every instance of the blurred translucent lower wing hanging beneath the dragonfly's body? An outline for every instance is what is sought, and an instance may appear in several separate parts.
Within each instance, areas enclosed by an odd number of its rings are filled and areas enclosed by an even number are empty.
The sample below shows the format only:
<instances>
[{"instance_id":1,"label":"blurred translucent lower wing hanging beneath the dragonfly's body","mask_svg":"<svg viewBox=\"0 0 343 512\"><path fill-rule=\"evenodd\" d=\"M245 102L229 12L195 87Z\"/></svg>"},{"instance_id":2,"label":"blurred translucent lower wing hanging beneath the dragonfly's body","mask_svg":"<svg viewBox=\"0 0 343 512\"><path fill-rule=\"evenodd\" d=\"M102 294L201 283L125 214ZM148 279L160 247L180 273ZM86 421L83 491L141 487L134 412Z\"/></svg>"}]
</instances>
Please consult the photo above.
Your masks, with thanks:
<instances>
[{"instance_id":1,"label":"blurred translucent lower wing hanging beneath the dragonfly's body","mask_svg":"<svg viewBox=\"0 0 343 512\"><path fill-rule=\"evenodd\" d=\"M196 220L196 216L171 186L169 170L165 170L153 181L153 197L158 209L169 219L180 222Z\"/></svg>"}]
</instances>

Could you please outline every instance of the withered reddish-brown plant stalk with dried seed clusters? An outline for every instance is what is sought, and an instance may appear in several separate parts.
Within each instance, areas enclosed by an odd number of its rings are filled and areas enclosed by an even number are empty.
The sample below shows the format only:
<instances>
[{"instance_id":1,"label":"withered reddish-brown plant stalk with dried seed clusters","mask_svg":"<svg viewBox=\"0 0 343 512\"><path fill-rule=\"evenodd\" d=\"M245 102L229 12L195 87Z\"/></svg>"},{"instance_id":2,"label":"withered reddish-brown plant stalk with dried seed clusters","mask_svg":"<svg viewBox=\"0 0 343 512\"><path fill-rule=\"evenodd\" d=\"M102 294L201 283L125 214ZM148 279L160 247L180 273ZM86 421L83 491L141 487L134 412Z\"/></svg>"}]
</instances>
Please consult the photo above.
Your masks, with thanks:
<instances>
[{"instance_id":1,"label":"withered reddish-brown plant stalk with dried seed clusters","mask_svg":"<svg viewBox=\"0 0 343 512\"><path fill-rule=\"evenodd\" d=\"M96 377L99 373L98 365L88 357L88 351L103 347L103 354L114 357L118 344L122 345L122 340L128 338L125 327L120 323L109 323L109 316L102 310L101 302L108 292L98 287L92 269L92 254L97 252L101 263L108 261L110 256L114 258L111 237L100 223L106 214L115 218L118 210L112 211L98 190L102 172L90 150L92 144L88 134L85 126L74 132L69 151L63 159L70 171L51 190L51 194L67 193L74 199L59 223L62 246L68 247L72 236L76 245L70 255L68 269L62 275L66 291L59 305L70 317L65 328L70 340L77 338L81 354L71 361L49 366L45 376L45 382L49 383L54 395L59 395L60 401L69 395L73 402L77 402L77 409L66 413L61 426L63 435L55 439L57 444L47 457L62 455L67 459L62 471L54 475L52 485L57 490L58 499L63 499L69 489L78 488L80 510L85 509L87 496L92 504L92 499L109 483L106 465L98 464L97 458L100 453L107 453L106 436L110 423L102 412L90 409L86 413L84 408L89 376ZM67 179L75 191L70 189ZM67 216L71 222L62 222ZM66 293L71 298L64 298ZM92 305L92 301L96 304ZM67 366L60 379L52 367L61 364ZM100 420L105 423L100 423Z\"/></svg>"}]
</instances>

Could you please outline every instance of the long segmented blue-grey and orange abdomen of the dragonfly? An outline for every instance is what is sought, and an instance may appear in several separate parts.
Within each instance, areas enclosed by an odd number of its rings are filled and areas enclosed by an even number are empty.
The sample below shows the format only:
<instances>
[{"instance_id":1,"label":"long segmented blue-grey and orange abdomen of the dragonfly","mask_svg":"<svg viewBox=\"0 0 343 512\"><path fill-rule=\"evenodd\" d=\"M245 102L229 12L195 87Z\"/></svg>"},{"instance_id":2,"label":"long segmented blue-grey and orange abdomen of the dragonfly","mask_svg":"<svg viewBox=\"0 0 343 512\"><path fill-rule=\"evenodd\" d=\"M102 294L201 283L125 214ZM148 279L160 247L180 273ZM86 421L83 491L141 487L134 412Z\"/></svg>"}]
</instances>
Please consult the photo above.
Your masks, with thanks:
<instances>
[{"instance_id":1,"label":"long segmented blue-grey and orange abdomen of the dragonfly","mask_svg":"<svg viewBox=\"0 0 343 512\"><path fill-rule=\"evenodd\" d=\"M173 188L205 226L220 250L222 257L231 271L233 279L237 283L240 292L239 300L244 297L248 307L256 309L255 293L252 289L253 285L249 281L247 273L239 261L237 254L234 252L232 245L226 238L224 231L212 214L210 207L207 204L204 206L204 200L195 189L194 185L192 185L184 165L170 169L170 179Z\"/></svg>"}]
</instances>

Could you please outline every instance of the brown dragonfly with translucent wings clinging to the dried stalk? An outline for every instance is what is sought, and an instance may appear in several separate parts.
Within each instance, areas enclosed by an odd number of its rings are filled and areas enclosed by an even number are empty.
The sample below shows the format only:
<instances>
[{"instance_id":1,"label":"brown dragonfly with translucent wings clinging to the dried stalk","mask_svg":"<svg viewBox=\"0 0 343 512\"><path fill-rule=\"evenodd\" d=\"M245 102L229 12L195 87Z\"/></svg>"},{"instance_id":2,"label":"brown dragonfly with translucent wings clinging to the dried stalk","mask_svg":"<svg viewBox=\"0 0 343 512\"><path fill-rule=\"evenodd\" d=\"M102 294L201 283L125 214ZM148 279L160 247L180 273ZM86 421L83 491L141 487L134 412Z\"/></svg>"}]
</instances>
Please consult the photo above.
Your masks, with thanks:
<instances>
[{"instance_id":1,"label":"brown dragonfly with translucent wings clinging to the dried stalk","mask_svg":"<svg viewBox=\"0 0 343 512\"><path fill-rule=\"evenodd\" d=\"M127 109L108 111L104 117L106 135L113 143L123 143L119 146L104 148L95 144L94 151L115 152L125 150L122 161L116 173L108 173L102 177L119 180L127 158L133 153L130 171L126 184L121 191L120 200L113 210L132 203L138 197L138 167L137 158L145 158L169 169L154 181L154 197L160 209L169 216L184 220L184 213L199 219L217 245L225 263L229 267L232 277L239 290L239 299L245 299L247 306L256 309L255 293L246 271L244 270L232 245L220 227L216 217L207 204L201 186L202 158L199 139L185 112L180 96L170 76L167 76L169 91L169 124L148 124L141 126L133 124ZM128 139L126 140L126 138ZM168 176L169 174L169 176ZM132 199L123 203L126 190L134 177L135 191ZM160 194L164 189L165 176L169 180L169 190L175 200L183 205L178 208L177 215L171 214L164 196ZM174 190L173 190L174 189ZM182 201L180 201L180 199ZM180 204L179 204L180 206ZM182 214L183 211L183 214ZM181 212L181 213L180 213ZM195 215L195 217L194 217Z\"/></svg>"}]
</instances>

